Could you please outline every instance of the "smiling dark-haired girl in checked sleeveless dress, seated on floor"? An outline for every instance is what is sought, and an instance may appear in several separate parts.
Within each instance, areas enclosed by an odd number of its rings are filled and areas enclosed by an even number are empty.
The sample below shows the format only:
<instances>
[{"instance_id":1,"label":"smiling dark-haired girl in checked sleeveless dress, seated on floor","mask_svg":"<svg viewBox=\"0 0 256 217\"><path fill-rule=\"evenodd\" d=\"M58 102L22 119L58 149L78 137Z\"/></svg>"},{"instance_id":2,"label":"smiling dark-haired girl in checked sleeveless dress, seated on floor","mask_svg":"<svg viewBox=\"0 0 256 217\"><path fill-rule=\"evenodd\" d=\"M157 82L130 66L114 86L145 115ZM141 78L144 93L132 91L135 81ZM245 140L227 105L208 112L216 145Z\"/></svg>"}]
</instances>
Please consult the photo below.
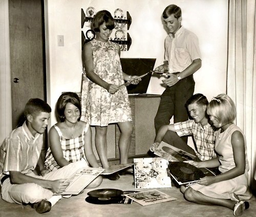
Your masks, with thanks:
<instances>
[{"instance_id":1,"label":"smiling dark-haired girl in checked sleeveless dress, seated on floor","mask_svg":"<svg viewBox=\"0 0 256 217\"><path fill-rule=\"evenodd\" d=\"M60 122L49 131L46 168L52 171L78 161L83 167L98 168L92 149L91 127L89 123L80 120L81 104L78 95L73 92L61 94L56 110ZM101 182L102 177L99 176L87 188L97 187Z\"/></svg>"}]
</instances>

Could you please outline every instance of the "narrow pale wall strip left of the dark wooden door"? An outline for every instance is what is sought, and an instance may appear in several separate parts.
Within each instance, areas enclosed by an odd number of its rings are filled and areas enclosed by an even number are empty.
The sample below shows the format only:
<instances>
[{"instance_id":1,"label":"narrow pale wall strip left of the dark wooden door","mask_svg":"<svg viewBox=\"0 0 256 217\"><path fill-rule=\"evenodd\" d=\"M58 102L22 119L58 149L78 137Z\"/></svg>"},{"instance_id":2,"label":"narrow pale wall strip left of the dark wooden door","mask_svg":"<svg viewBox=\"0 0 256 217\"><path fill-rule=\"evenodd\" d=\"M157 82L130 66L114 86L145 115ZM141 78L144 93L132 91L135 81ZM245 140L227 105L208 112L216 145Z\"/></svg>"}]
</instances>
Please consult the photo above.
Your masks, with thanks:
<instances>
[{"instance_id":1,"label":"narrow pale wall strip left of the dark wooden door","mask_svg":"<svg viewBox=\"0 0 256 217\"><path fill-rule=\"evenodd\" d=\"M12 131L9 4L0 1L0 146Z\"/></svg>"}]
</instances>

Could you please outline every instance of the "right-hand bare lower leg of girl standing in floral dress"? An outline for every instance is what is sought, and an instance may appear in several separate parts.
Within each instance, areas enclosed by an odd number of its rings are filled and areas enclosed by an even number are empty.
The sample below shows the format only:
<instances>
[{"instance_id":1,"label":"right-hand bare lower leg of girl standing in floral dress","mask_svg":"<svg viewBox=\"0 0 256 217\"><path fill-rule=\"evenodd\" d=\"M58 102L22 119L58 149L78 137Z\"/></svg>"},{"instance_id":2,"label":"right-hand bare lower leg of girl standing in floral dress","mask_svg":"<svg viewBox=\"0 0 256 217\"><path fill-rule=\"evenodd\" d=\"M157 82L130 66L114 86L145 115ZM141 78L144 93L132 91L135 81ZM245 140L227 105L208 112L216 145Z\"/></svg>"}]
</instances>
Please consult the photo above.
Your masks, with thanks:
<instances>
[{"instance_id":1,"label":"right-hand bare lower leg of girl standing in floral dress","mask_svg":"<svg viewBox=\"0 0 256 217\"><path fill-rule=\"evenodd\" d=\"M128 152L131 144L133 124L130 121L118 123L121 134L119 137L120 164L128 162Z\"/></svg>"}]
</instances>

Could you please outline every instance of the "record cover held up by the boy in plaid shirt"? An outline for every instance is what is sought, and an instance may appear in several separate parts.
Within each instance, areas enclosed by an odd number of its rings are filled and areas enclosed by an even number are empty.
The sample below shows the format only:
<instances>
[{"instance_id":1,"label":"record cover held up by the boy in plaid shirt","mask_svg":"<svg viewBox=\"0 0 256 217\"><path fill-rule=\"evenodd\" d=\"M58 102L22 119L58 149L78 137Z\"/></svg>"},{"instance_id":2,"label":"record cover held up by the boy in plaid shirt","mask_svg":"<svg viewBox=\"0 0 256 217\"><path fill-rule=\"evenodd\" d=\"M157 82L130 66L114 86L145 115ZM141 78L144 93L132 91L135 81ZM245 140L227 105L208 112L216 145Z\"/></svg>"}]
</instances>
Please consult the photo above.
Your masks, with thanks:
<instances>
[{"instance_id":1,"label":"record cover held up by the boy in plaid shirt","mask_svg":"<svg viewBox=\"0 0 256 217\"><path fill-rule=\"evenodd\" d=\"M158 150L154 151L154 154L167 160L167 161L188 161L194 160L196 156L187 153L173 145L166 142L161 142L158 146Z\"/></svg>"}]
</instances>

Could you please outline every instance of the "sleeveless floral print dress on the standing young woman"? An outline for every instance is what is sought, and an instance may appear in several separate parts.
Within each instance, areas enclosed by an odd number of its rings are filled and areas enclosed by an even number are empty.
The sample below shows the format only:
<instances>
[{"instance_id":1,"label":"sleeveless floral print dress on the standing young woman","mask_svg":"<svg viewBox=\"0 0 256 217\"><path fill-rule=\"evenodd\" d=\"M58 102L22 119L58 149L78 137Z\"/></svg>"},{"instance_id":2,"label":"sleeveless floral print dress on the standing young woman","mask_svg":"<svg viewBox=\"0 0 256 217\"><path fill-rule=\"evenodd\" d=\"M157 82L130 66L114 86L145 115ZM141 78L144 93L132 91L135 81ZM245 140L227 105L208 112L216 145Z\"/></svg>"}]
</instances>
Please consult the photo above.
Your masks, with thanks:
<instances>
[{"instance_id":1,"label":"sleeveless floral print dress on the standing young woman","mask_svg":"<svg viewBox=\"0 0 256 217\"><path fill-rule=\"evenodd\" d=\"M101 42L93 39L93 66L102 80L121 85L124 83L120 57L114 42ZM108 126L109 123L132 121L130 100L126 88L115 94L90 81L84 74L82 78L81 120L90 125Z\"/></svg>"}]
</instances>

